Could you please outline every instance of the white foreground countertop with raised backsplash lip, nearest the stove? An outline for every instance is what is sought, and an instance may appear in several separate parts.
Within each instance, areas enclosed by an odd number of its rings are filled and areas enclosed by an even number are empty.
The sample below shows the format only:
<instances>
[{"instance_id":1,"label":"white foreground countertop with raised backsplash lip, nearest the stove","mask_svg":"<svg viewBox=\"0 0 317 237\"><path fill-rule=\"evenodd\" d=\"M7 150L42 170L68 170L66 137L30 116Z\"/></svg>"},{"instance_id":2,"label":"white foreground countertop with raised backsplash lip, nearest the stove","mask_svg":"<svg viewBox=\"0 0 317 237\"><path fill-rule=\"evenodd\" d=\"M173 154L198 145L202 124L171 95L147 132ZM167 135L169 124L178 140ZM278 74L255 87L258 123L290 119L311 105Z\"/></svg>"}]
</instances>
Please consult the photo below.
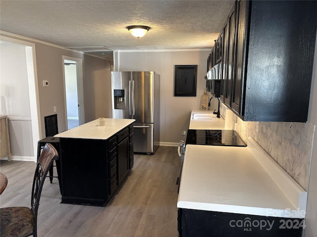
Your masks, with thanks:
<instances>
[{"instance_id":1,"label":"white foreground countertop with raised backsplash lip, nearest the stove","mask_svg":"<svg viewBox=\"0 0 317 237\"><path fill-rule=\"evenodd\" d=\"M307 192L257 150L261 147L252 138L248 147L187 145L177 207L304 218L289 216L287 208L306 210Z\"/></svg>"}]
</instances>

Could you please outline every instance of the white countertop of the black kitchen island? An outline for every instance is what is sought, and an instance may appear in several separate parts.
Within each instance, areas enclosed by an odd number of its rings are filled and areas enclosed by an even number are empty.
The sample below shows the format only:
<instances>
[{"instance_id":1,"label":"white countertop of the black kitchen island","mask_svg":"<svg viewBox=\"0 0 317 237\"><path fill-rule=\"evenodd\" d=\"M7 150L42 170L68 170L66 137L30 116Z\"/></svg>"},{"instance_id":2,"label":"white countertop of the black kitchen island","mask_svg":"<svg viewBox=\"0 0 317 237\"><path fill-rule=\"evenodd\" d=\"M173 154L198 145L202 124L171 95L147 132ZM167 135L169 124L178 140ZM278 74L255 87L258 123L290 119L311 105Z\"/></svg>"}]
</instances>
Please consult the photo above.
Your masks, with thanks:
<instances>
[{"instance_id":1,"label":"white countertop of the black kitchen island","mask_svg":"<svg viewBox=\"0 0 317 237\"><path fill-rule=\"evenodd\" d=\"M98 119L96 119L70 130L58 133L54 137L106 140L135 121L135 119L122 118L105 118L105 120L105 126L98 126Z\"/></svg>"}]
</instances>

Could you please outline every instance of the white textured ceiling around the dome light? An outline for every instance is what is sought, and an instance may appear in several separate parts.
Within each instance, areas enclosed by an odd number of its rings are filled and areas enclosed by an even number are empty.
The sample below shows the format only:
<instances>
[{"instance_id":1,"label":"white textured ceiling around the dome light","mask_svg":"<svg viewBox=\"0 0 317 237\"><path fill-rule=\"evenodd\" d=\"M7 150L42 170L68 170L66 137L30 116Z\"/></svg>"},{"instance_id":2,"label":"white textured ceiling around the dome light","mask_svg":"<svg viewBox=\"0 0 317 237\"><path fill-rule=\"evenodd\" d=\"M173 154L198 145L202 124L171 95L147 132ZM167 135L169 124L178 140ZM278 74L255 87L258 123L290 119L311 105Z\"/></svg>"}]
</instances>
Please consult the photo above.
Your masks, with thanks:
<instances>
[{"instance_id":1,"label":"white textured ceiling around the dome light","mask_svg":"<svg viewBox=\"0 0 317 237\"><path fill-rule=\"evenodd\" d=\"M0 30L80 51L211 48L233 0L0 0ZM129 25L151 27L134 38Z\"/></svg>"}]
</instances>

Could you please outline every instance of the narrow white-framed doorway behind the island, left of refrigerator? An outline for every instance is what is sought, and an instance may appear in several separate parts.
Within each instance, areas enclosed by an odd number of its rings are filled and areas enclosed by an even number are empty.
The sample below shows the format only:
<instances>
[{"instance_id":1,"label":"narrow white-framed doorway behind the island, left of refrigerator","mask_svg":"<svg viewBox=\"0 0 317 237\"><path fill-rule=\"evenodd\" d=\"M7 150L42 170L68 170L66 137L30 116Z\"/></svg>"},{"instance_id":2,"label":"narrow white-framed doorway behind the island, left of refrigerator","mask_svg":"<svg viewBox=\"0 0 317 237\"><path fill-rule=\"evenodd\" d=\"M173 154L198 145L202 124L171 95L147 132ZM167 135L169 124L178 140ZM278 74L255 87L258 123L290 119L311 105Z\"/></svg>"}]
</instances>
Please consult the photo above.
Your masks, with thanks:
<instances>
[{"instance_id":1,"label":"narrow white-framed doorway behind the island, left of refrigerator","mask_svg":"<svg viewBox=\"0 0 317 237\"><path fill-rule=\"evenodd\" d=\"M84 123L82 60L63 56L66 129Z\"/></svg>"}]
</instances>

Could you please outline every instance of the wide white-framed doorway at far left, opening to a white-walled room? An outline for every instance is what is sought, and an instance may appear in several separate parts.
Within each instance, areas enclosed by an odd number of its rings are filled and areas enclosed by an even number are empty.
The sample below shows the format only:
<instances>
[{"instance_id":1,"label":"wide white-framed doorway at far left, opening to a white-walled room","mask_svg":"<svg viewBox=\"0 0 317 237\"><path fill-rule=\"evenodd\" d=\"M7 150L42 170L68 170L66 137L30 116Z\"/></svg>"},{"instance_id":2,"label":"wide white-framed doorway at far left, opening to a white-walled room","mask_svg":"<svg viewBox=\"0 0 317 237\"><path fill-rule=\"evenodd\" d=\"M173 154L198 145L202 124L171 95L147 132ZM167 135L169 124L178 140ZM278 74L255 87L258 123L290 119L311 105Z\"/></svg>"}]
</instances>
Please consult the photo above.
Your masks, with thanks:
<instances>
[{"instance_id":1,"label":"wide white-framed doorway at far left, opening to a white-walled room","mask_svg":"<svg viewBox=\"0 0 317 237\"><path fill-rule=\"evenodd\" d=\"M37 161L41 120L35 45L1 36L1 114L9 119L12 160Z\"/></svg>"}]
</instances>

